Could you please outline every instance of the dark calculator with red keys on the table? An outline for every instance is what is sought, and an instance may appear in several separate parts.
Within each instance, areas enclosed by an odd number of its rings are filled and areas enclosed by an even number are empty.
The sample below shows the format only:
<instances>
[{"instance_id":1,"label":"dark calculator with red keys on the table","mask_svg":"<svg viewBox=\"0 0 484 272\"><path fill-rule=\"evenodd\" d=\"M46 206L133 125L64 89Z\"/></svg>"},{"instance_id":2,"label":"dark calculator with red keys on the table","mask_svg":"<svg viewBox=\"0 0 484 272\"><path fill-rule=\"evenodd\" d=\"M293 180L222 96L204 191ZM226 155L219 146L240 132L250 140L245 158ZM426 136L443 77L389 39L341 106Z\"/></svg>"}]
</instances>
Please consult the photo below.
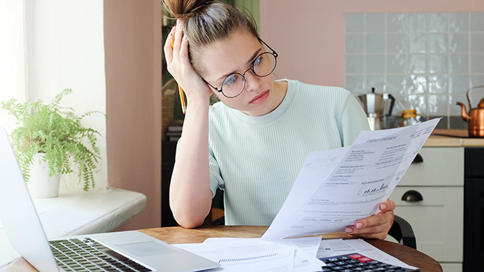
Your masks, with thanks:
<instances>
[{"instance_id":1,"label":"dark calculator with red keys on the table","mask_svg":"<svg viewBox=\"0 0 484 272\"><path fill-rule=\"evenodd\" d=\"M420 270L406 269L392 264L386 264L358 253L319 258L326 266L323 272L419 272Z\"/></svg>"}]
</instances>

